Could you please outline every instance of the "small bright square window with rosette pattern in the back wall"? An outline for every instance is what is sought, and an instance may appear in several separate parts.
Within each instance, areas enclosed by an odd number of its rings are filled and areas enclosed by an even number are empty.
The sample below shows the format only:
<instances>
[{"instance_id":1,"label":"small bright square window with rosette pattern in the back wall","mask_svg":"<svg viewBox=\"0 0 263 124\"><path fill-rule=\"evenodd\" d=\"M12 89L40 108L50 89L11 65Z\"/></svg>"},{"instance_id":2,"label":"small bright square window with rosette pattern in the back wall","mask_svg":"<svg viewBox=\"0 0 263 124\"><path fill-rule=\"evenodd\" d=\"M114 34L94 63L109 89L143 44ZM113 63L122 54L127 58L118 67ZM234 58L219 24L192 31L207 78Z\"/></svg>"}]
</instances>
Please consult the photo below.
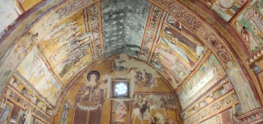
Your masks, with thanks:
<instances>
[{"instance_id":1,"label":"small bright square window with rosette pattern in the back wall","mask_svg":"<svg viewBox=\"0 0 263 124\"><path fill-rule=\"evenodd\" d=\"M129 85L128 82L113 82L113 98L127 98L129 97Z\"/></svg>"}]
</instances>

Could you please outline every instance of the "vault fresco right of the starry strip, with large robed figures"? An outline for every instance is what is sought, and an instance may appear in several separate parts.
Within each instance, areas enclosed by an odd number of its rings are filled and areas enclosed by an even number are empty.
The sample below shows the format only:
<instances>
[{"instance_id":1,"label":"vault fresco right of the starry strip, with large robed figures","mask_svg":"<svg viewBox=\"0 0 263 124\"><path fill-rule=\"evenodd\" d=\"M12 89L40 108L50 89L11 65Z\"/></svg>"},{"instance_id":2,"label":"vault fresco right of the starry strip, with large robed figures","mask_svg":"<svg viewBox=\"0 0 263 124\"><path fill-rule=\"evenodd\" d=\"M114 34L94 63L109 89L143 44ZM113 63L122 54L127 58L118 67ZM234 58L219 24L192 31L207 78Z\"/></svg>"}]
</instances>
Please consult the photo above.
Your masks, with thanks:
<instances>
[{"instance_id":1,"label":"vault fresco right of the starry strip, with large robed figures","mask_svg":"<svg viewBox=\"0 0 263 124\"><path fill-rule=\"evenodd\" d=\"M191 31L176 18L168 15L151 60L160 72L170 70L178 84L189 75L206 51L191 33L187 36L184 32Z\"/></svg>"}]
</instances>

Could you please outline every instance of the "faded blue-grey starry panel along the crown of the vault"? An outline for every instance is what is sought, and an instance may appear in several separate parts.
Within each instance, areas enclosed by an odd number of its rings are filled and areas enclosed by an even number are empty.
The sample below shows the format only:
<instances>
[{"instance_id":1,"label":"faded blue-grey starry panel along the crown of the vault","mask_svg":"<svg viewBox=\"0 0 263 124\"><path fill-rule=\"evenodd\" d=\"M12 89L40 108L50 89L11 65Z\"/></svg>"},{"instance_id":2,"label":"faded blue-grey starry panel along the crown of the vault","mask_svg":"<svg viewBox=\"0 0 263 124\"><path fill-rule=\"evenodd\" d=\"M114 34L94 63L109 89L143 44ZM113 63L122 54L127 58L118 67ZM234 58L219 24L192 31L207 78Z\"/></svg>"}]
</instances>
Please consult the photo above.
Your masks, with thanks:
<instances>
[{"instance_id":1,"label":"faded blue-grey starry panel along the crown of the vault","mask_svg":"<svg viewBox=\"0 0 263 124\"><path fill-rule=\"evenodd\" d=\"M117 53L138 57L150 6L140 0L102 1L106 57Z\"/></svg>"}]
</instances>

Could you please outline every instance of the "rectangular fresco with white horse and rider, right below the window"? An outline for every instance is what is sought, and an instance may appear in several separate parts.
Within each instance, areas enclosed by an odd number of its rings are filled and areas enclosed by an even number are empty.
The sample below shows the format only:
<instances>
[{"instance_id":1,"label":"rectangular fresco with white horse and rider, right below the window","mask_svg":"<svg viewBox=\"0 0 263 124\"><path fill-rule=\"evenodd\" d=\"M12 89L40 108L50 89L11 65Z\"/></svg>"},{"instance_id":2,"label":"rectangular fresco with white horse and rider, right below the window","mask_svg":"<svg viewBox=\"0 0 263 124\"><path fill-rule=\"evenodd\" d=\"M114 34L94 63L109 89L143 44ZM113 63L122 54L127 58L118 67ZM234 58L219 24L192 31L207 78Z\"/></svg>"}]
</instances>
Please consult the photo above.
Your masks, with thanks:
<instances>
[{"instance_id":1,"label":"rectangular fresco with white horse and rider, right below the window","mask_svg":"<svg viewBox=\"0 0 263 124\"><path fill-rule=\"evenodd\" d=\"M178 109L178 105L173 95L142 95L135 94L132 101L133 112L131 121L168 123L173 121L167 111ZM167 119L166 119L167 118Z\"/></svg>"}]
</instances>

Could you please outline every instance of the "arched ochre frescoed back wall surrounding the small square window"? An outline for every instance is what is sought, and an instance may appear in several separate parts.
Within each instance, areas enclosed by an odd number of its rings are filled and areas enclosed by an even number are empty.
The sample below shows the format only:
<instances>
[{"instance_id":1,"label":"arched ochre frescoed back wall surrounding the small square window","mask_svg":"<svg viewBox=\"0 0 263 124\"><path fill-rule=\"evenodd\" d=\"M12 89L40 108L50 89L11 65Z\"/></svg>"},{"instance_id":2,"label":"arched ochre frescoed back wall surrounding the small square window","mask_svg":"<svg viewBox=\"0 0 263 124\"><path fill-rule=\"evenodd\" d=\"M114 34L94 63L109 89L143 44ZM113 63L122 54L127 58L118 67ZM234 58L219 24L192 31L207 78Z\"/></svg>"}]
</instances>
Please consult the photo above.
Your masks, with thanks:
<instances>
[{"instance_id":1,"label":"arched ochre frescoed back wall surrounding the small square window","mask_svg":"<svg viewBox=\"0 0 263 124\"><path fill-rule=\"evenodd\" d=\"M127 57L127 56L126 56ZM120 60L125 60L125 62ZM119 65L119 71L112 68L115 63ZM122 62L119 64L118 62ZM63 106L59 108L58 115L55 116L54 123L141 123L143 122L169 122L179 123L176 118L179 103L176 96L165 85L165 82L156 78L158 87L137 86L138 78L133 71L133 64L126 66L126 63L138 64L140 62L131 58L126 58L123 54L120 58L107 60L84 72L73 84L68 93L63 98ZM121 71L128 68L130 71ZM146 72L151 72L148 67L142 65ZM148 68L148 69L147 69ZM153 72L151 72L153 73ZM153 74L154 75L154 74ZM129 92L134 92L129 99L111 98L112 89L109 85L118 80L129 79L128 83L134 84L129 87ZM141 80L141 82L147 80ZM137 93L140 92L140 93ZM70 107L71 106L71 107ZM143 118L140 112L144 109ZM149 113L149 110L152 112ZM96 117L94 117L96 116ZM131 117L136 117L131 119Z\"/></svg>"}]
</instances>

